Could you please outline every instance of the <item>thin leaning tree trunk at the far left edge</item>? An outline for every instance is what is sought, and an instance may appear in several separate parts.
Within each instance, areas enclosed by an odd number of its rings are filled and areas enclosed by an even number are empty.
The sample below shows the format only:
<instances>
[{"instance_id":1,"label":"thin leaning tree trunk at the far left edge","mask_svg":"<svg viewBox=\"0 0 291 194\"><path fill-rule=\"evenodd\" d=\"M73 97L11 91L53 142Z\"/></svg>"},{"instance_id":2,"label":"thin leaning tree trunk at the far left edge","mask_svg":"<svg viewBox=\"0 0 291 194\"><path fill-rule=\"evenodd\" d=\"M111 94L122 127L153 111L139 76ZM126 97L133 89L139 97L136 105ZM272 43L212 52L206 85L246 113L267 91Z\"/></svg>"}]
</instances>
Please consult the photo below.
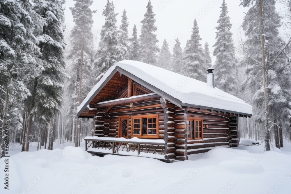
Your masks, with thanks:
<instances>
[{"instance_id":1,"label":"thin leaning tree trunk at the far left edge","mask_svg":"<svg viewBox=\"0 0 291 194\"><path fill-rule=\"evenodd\" d=\"M8 78L8 83L7 83L7 90L6 90L6 94L5 94L5 104L4 104L4 109L3 109L3 122L2 122L2 128L1 128L1 138L0 138L0 145L2 145L2 149L1 149L1 155L0 158L5 156L5 152L4 152L4 146L5 146L5 140L4 140L4 136L5 136L5 129L7 128L7 114L8 114L8 98L9 98L9 85L10 85L10 77Z\"/></svg>"}]
</instances>

